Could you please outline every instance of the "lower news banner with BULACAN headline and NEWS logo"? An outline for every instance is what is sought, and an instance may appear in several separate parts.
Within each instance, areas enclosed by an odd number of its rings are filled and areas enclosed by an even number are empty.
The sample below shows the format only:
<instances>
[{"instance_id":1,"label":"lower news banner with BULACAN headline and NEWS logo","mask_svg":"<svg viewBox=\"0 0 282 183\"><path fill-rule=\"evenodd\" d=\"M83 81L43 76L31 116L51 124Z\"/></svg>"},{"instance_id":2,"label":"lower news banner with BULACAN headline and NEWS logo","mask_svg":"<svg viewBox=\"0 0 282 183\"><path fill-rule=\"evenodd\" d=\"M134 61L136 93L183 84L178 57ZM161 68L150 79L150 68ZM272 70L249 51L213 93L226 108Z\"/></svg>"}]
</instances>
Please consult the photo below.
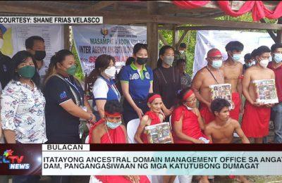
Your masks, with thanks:
<instances>
[{"instance_id":1,"label":"lower news banner with BULACAN headline and NEWS logo","mask_svg":"<svg viewBox=\"0 0 282 183\"><path fill-rule=\"evenodd\" d=\"M0 175L282 175L280 144L203 145L1 144Z\"/></svg>"}]
</instances>

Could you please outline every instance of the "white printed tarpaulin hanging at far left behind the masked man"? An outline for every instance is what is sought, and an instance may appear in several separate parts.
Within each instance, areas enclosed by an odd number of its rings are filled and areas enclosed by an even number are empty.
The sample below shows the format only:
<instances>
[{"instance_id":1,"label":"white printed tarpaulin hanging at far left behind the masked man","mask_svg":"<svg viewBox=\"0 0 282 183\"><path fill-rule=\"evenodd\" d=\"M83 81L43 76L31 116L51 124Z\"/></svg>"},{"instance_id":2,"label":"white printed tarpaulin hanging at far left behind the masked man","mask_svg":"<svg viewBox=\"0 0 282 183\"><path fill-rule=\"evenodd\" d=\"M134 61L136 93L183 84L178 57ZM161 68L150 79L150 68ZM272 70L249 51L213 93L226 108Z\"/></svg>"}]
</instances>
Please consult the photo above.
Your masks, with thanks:
<instances>
[{"instance_id":1,"label":"white printed tarpaulin hanging at far left behind the masked man","mask_svg":"<svg viewBox=\"0 0 282 183\"><path fill-rule=\"evenodd\" d=\"M43 37L46 57L39 75L45 75L50 58L55 52L63 49L63 25L11 25L4 24L4 45L1 51L12 57L18 51L25 50L25 39L31 36Z\"/></svg>"}]
</instances>

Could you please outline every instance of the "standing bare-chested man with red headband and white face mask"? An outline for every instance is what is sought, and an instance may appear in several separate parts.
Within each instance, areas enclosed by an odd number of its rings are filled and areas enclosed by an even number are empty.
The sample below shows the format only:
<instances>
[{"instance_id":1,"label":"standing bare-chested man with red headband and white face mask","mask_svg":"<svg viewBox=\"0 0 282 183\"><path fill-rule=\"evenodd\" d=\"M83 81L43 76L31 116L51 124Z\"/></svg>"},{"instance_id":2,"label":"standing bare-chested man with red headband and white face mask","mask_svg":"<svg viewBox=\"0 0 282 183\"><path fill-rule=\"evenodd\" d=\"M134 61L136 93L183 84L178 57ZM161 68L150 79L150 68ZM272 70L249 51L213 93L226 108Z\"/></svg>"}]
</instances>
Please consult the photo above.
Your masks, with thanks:
<instances>
[{"instance_id":1,"label":"standing bare-chested man with red headband and white face mask","mask_svg":"<svg viewBox=\"0 0 282 183\"><path fill-rule=\"evenodd\" d=\"M211 113L211 89L212 84L224 84L222 65L222 54L218 49L211 49L207 52L207 66L202 68L195 75L192 82L192 90L200 101L200 113L204 122L208 124L214 120Z\"/></svg>"}]
</instances>

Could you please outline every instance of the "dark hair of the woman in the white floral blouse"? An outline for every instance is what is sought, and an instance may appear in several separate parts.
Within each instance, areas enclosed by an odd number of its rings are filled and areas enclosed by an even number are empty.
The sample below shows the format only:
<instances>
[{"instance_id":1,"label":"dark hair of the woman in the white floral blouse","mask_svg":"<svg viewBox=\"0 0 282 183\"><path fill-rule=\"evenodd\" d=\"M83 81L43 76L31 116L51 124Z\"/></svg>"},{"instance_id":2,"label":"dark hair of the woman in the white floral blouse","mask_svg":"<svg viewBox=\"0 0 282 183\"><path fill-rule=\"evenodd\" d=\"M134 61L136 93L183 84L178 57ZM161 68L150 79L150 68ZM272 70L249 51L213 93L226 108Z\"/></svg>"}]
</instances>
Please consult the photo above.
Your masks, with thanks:
<instances>
[{"instance_id":1,"label":"dark hair of the woman in the white floral blouse","mask_svg":"<svg viewBox=\"0 0 282 183\"><path fill-rule=\"evenodd\" d=\"M18 74L18 72L16 71L18 69L18 65L20 65L21 63L25 62L26 59L30 57L32 58L32 62L36 67L36 62L32 56L32 54L28 51L18 51L18 53L16 53L13 58L12 58L12 63L13 63L13 80L18 81L20 80L20 75ZM38 72L35 70L35 75L31 78L32 82L35 83L36 87L39 88L39 82L40 82L40 77Z\"/></svg>"}]
</instances>

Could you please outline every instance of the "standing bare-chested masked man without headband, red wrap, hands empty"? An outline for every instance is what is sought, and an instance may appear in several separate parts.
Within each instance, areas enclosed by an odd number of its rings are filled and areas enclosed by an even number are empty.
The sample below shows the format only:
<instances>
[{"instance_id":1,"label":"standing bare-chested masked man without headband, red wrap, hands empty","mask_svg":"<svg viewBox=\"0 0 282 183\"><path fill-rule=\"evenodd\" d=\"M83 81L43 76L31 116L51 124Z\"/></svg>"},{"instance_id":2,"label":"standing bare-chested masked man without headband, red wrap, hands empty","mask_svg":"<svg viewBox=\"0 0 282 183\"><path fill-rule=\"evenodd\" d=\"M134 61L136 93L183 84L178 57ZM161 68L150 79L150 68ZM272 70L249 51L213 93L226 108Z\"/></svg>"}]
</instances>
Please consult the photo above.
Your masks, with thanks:
<instances>
[{"instance_id":1,"label":"standing bare-chested masked man without headband, red wrap, hands empty","mask_svg":"<svg viewBox=\"0 0 282 183\"><path fill-rule=\"evenodd\" d=\"M244 46L242 43L237 41L229 42L226 44L225 49L228 54L228 58L222 65L224 81L225 83L231 84L232 101L235 106L235 108L230 111L230 117L234 120L239 120L239 114L243 111L241 103L243 64L239 61Z\"/></svg>"}]
</instances>

